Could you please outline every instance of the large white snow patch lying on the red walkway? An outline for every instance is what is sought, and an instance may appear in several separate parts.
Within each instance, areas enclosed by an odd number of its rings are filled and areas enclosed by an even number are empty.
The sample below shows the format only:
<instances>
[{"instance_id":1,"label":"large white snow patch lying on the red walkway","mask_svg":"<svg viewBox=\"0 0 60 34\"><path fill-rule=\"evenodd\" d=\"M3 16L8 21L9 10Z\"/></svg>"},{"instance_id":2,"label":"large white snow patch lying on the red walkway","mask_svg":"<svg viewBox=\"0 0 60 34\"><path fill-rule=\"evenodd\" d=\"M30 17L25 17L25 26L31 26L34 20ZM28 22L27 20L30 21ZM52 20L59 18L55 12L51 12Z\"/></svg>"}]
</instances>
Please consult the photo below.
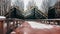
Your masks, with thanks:
<instances>
[{"instance_id":1,"label":"large white snow patch lying on the red walkway","mask_svg":"<svg viewBox=\"0 0 60 34\"><path fill-rule=\"evenodd\" d=\"M32 28L37 28L37 29L51 29L53 28L52 25L47 25L47 24L42 24L42 23L37 23L35 21L27 21Z\"/></svg>"}]
</instances>

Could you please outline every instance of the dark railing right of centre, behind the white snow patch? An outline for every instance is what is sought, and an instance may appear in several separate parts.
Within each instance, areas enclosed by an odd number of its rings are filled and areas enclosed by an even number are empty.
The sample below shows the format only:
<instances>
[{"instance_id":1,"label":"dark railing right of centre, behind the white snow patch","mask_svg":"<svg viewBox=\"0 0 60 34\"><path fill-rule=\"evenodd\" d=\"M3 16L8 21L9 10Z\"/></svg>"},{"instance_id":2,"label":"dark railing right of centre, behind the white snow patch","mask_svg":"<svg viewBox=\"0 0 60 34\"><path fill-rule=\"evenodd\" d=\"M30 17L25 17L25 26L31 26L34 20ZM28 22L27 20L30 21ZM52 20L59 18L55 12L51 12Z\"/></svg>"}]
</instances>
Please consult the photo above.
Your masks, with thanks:
<instances>
[{"instance_id":1,"label":"dark railing right of centre, behind the white snow patch","mask_svg":"<svg viewBox=\"0 0 60 34\"><path fill-rule=\"evenodd\" d=\"M60 25L60 19L25 19L26 21L37 21L43 24Z\"/></svg>"}]
</instances>

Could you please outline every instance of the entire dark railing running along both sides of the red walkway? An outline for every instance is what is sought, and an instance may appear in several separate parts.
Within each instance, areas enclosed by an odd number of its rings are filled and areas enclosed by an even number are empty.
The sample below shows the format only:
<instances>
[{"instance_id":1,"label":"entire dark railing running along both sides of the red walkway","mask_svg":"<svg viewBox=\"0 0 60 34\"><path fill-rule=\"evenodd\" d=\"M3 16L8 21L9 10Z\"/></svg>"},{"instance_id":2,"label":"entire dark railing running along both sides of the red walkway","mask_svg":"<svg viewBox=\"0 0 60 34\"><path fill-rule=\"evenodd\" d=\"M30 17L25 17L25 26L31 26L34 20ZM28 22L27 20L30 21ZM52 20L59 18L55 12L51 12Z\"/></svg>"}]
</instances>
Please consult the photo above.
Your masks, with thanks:
<instances>
[{"instance_id":1,"label":"entire dark railing running along both sides of the red walkway","mask_svg":"<svg viewBox=\"0 0 60 34\"><path fill-rule=\"evenodd\" d=\"M0 21L3 21L3 30L4 30L4 34L6 34L6 32L8 32L10 29L15 30L17 27L19 27L22 23L24 23L24 21L37 21L40 23L44 23L44 24L51 24L51 25L60 25L60 19L0 19Z\"/></svg>"}]
</instances>

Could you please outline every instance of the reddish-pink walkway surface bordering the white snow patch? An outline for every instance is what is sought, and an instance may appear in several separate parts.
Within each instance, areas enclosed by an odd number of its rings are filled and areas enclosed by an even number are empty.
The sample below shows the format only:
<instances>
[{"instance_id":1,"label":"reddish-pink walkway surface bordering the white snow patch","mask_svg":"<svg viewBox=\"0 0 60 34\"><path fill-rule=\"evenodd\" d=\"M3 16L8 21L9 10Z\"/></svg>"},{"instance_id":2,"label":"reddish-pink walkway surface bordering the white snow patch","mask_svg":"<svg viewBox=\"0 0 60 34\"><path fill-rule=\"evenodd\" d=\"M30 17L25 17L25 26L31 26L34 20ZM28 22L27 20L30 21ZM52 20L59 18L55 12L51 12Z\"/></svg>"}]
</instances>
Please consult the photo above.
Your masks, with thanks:
<instances>
[{"instance_id":1,"label":"reddish-pink walkway surface bordering the white snow patch","mask_svg":"<svg viewBox=\"0 0 60 34\"><path fill-rule=\"evenodd\" d=\"M32 28L28 23L24 23L15 32L16 34L60 34L60 26L54 26L51 29L36 29Z\"/></svg>"}]
</instances>

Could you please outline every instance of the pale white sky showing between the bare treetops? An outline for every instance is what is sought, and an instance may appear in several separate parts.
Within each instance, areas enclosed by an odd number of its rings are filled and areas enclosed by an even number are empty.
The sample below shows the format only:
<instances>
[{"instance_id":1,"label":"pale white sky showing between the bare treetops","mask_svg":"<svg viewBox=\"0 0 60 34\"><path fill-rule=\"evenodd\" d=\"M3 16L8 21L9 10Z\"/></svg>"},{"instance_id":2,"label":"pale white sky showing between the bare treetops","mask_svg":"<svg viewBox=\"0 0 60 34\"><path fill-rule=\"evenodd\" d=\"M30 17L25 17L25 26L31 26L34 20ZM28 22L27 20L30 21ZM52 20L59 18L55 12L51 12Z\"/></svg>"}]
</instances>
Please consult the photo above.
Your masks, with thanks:
<instances>
[{"instance_id":1,"label":"pale white sky showing between the bare treetops","mask_svg":"<svg viewBox=\"0 0 60 34\"><path fill-rule=\"evenodd\" d=\"M32 0L18 0L18 1L23 1L24 2L24 11L25 11L25 10L27 10L28 3ZM12 2L11 5L13 5L13 4L15 4L14 2L16 2L16 0L11 0L11 2ZM34 2L36 3L36 6L38 7L39 10L45 12L48 8L48 6L47 6L48 2L50 3L50 6L53 6L57 2L57 0L34 0ZM43 6L43 3L46 4L45 7ZM46 8L46 9L43 9L42 7Z\"/></svg>"}]
</instances>

